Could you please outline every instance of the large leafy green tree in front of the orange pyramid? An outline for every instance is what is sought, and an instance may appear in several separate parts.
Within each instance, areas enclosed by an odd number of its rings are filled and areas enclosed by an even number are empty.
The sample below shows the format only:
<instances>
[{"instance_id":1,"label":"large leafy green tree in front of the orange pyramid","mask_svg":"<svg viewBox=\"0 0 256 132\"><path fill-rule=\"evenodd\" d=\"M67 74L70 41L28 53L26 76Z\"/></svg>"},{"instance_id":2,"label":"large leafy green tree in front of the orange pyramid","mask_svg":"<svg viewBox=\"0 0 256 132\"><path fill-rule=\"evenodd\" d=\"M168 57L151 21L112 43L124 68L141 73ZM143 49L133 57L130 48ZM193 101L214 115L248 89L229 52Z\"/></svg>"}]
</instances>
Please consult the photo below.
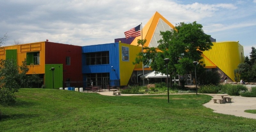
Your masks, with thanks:
<instances>
[{"instance_id":1,"label":"large leafy green tree in front of the orange pyramid","mask_svg":"<svg viewBox=\"0 0 256 132\"><path fill-rule=\"evenodd\" d=\"M206 35L202 28L203 26L196 22L177 24L174 30L160 32L162 39L158 41L157 48L144 48L146 49L144 57L139 54L137 58L142 59L143 64L148 64L148 60L151 59L151 68L161 73L166 73L164 58L169 58L168 73L172 76L187 74L194 69L192 62L199 62L202 59L202 52L211 49L212 46L210 35ZM158 49L161 52L157 52ZM204 66L202 62L199 64L197 66L199 68Z\"/></svg>"}]
</instances>

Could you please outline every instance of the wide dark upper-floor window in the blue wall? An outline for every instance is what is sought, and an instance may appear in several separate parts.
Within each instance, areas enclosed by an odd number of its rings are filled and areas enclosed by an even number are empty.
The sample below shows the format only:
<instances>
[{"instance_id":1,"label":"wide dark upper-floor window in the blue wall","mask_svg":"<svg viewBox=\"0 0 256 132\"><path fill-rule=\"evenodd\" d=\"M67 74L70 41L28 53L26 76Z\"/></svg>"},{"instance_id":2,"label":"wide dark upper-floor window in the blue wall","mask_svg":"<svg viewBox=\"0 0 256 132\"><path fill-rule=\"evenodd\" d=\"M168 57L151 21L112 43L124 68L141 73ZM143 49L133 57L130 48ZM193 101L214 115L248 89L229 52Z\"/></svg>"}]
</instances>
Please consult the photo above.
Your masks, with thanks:
<instances>
[{"instance_id":1,"label":"wide dark upper-floor window in the blue wall","mask_svg":"<svg viewBox=\"0 0 256 132\"><path fill-rule=\"evenodd\" d=\"M109 52L96 52L86 54L86 65L109 64Z\"/></svg>"}]
</instances>

